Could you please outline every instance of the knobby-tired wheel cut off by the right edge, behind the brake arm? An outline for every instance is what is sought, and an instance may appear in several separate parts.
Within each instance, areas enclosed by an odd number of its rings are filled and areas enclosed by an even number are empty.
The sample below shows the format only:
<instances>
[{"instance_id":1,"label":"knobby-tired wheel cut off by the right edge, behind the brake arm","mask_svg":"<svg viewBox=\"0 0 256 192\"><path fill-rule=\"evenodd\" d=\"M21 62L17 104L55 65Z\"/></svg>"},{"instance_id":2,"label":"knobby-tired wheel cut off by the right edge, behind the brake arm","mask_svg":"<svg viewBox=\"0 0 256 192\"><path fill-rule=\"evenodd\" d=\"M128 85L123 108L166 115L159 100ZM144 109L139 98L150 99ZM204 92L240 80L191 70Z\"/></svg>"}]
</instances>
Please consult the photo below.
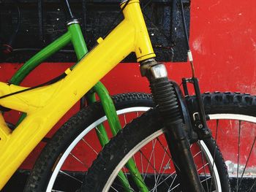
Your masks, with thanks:
<instances>
[{"instance_id":1,"label":"knobby-tired wheel cut off by the right edge, behind the brake arm","mask_svg":"<svg viewBox=\"0 0 256 192\"><path fill-rule=\"evenodd\" d=\"M187 101L195 109L195 98ZM203 103L208 126L225 158L231 191L256 191L256 96L204 93Z\"/></svg>"}]
</instances>

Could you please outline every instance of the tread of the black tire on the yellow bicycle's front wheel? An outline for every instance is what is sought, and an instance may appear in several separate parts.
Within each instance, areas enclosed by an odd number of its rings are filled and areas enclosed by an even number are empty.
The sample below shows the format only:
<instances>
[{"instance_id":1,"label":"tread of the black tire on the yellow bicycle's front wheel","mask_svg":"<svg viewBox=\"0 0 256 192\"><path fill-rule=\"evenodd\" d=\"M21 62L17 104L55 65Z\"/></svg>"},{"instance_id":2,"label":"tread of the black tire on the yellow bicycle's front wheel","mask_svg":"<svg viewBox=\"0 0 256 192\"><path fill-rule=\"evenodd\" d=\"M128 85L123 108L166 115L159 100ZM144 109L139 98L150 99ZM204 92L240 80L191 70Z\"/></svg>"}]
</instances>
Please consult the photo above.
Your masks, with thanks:
<instances>
[{"instance_id":1,"label":"tread of the black tire on the yellow bicycle's front wheel","mask_svg":"<svg viewBox=\"0 0 256 192\"><path fill-rule=\"evenodd\" d=\"M154 118L152 118L154 117ZM155 117L158 119L156 120ZM157 131L157 128L163 126L162 120L160 120L157 110L151 110L151 112L146 112L145 114L140 116L140 119L132 120L132 123L129 123L124 129L118 132L116 137L110 140L108 145L104 147L101 153L99 153L97 159L94 161L92 166L89 168L89 172L85 177L86 185L80 189L80 191L91 191L91 192L99 192L102 191L102 181L105 181L105 172L109 172L116 165L115 162L121 161L121 157L126 155L127 150L131 150L134 145L129 146L128 142L130 140L133 143L138 143L144 137L143 134L148 136L154 131ZM152 128L150 129L149 126ZM136 131L134 131L136 130ZM147 132L145 134L145 132ZM219 172L222 172L221 176L227 185L223 186L223 191L228 191L230 188L230 183L228 180L227 174L227 166L225 165L225 161L220 153L219 147L215 144L214 139L206 141L208 143L214 145L216 155L216 163L222 164L222 169ZM211 146L213 148L213 146ZM211 150L213 151L213 149ZM115 156L117 155L117 156ZM92 171L91 171L92 170ZM104 182L103 182L104 183Z\"/></svg>"}]
</instances>

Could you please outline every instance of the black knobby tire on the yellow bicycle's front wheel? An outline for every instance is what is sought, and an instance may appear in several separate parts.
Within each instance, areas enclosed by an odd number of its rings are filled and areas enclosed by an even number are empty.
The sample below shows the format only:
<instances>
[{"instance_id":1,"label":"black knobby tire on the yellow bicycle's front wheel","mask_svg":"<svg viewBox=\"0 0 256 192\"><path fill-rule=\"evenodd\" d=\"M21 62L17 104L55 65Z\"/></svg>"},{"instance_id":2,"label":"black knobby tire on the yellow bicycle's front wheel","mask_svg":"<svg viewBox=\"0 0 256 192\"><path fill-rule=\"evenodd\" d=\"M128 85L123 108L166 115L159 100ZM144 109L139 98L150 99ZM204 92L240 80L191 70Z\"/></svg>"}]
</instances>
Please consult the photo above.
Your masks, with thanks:
<instances>
[{"instance_id":1,"label":"black knobby tire on the yellow bicycle's front wheel","mask_svg":"<svg viewBox=\"0 0 256 192\"><path fill-rule=\"evenodd\" d=\"M157 110L151 110L150 112L146 112L146 114L142 115L140 118L133 120L132 123L129 123L117 137L111 139L108 145L106 145L98 156L97 160L94 161L93 166L91 166L91 170L86 175L86 185L82 188L82 191L107 191L109 190L108 183L113 182L113 180L108 180L109 178L115 178L113 174L117 174L120 169L116 169L119 164L123 164L127 162L127 160L131 157L133 150L138 151L136 147L144 146L146 143L151 142L155 136L157 136L160 132L164 131L162 125L162 120L159 118L159 114ZM149 139L150 138L150 139ZM144 143L145 142L145 143ZM154 140L152 141L154 142ZM162 141L161 141L162 142ZM206 141L206 145L208 150L211 151L211 155L215 154L215 163L218 169L219 177L225 178L227 181L223 184L223 188L226 188L228 191L229 184L227 179L227 169L225 167L224 161L222 159L222 155L219 153L219 149L217 145L214 144L212 139L208 139ZM146 148L151 148L146 146ZM139 153L143 153L143 150L140 150ZM162 150L164 152L164 150ZM131 153L131 154L129 154ZM147 152L146 152L147 153ZM158 154L158 153L157 153ZM127 158L127 155L129 158ZM145 156L145 155L143 155ZM160 155L163 156L163 155ZM146 157L149 159L150 157ZM135 159L135 158L134 158ZM164 161L164 159L162 160ZM148 164L153 164L148 161ZM121 166L122 167L122 166ZM116 170L115 170L116 169ZM114 171L115 170L115 171ZM162 173L159 173L162 174ZM118 176L116 176L118 177ZM148 177L150 177L148 175ZM153 176L154 177L154 176ZM157 175L159 177L159 175ZM147 178L146 178L147 179ZM154 186L155 184L151 184L151 179L148 179L148 183L144 180L146 184ZM164 181L164 179L162 180ZM161 183L162 181L159 181ZM171 184L173 180L170 180ZM111 188L115 188L115 191L124 191L124 188L120 187L120 183L118 180L115 180L115 183L111 186ZM175 186L175 185L174 185ZM157 191L167 191L168 188L166 186L158 186ZM169 187L169 186L168 186ZM149 191L152 188L148 188ZM180 189L177 189L180 190ZM138 191L138 188L131 187L131 191Z\"/></svg>"}]
</instances>

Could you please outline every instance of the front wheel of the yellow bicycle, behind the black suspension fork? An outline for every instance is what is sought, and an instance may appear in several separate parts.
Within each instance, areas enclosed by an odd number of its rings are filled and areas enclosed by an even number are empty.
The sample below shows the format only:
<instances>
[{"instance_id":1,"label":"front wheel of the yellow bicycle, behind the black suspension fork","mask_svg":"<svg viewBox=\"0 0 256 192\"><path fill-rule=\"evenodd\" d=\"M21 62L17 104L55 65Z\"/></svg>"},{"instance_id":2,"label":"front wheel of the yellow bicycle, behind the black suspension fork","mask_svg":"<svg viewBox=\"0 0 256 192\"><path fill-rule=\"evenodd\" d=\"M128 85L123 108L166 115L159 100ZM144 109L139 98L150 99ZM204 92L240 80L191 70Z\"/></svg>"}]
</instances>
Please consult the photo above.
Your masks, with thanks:
<instances>
[{"instance_id":1,"label":"front wheel of the yellow bicycle, behind the black suspension fork","mask_svg":"<svg viewBox=\"0 0 256 192\"><path fill-rule=\"evenodd\" d=\"M146 112L129 123L99 153L86 175L82 190L139 191L135 185L135 180L140 180L138 175L132 175L125 167L132 158L143 178L146 191L181 191L176 163L168 151L164 132L157 110ZM228 191L227 169L213 139L194 143L191 150L206 191L222 191L222 188ZM120 171L126 176L128 188L120 183Z\"/></svg>"}]
</instances>

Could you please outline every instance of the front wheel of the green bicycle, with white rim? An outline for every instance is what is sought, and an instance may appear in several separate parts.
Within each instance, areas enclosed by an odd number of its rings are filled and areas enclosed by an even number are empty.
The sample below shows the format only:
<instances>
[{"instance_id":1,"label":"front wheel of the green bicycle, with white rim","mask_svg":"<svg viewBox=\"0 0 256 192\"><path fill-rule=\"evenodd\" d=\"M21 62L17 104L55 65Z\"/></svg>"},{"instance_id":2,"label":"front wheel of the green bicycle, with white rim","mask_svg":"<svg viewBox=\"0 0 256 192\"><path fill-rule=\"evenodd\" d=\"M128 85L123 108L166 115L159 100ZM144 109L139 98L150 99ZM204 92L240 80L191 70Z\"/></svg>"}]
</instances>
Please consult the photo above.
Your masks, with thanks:
<instances>
[{"instance_id":1,"label":"front wheel of the green bicycle, with white rim","mask_svg":"<svg viewBox=\"0 0 256 192\"><path fill-rule=\"evenodd\" d=\"M154 106L151 95L125 93L113 96L122 125ZM99 102L83 108L64 123L39 155L25 191L75 191L83 174L101 150L96 137L103 123L109 134L105 113ZM110 135L109 135L110 136Z\"/></svg>"}]
</instances>

